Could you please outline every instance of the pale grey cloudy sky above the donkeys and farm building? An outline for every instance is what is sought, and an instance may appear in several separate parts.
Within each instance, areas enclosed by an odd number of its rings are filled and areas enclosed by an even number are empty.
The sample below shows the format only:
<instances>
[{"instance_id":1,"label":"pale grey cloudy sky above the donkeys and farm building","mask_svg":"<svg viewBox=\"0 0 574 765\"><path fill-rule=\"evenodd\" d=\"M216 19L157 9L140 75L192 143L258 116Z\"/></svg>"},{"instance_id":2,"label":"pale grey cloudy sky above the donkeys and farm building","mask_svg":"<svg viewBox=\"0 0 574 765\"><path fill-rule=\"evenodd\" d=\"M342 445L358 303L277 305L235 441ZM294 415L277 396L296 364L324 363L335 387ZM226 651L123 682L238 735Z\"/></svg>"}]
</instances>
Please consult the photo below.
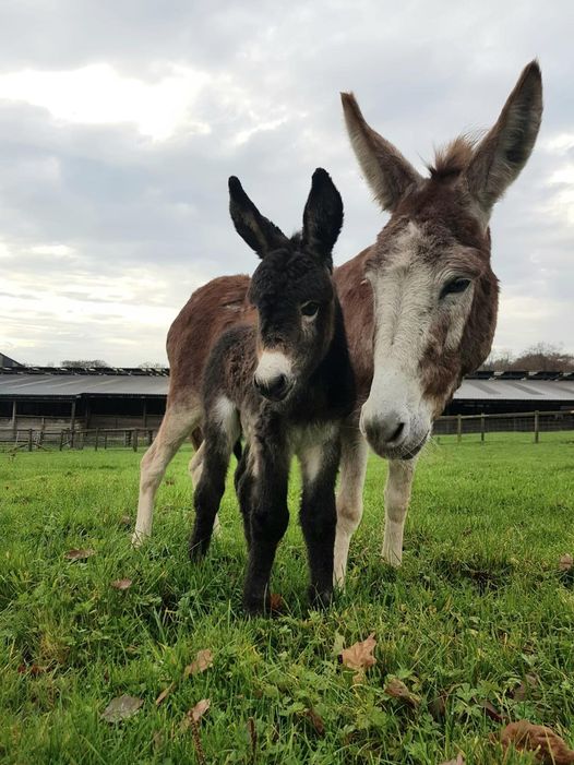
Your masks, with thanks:
<instances>
[{"instance_id":1,"label":"pale grey cloudy sky above the donkeys and farm building","mask_svg":"<svg viewBox=\"0 0 574 765\"><path fill-rule=\"evenodd\" d=\"M339 91L422 169L494 121L534 57L541 133L492 218L494 344L574 351L573 28L571 0L2 0L0 351L165 361L191 291L255 266L228 218L229 175L290 232L313 169L328 169L343 263L385 216Z\"/></svg>"}]
</instances>

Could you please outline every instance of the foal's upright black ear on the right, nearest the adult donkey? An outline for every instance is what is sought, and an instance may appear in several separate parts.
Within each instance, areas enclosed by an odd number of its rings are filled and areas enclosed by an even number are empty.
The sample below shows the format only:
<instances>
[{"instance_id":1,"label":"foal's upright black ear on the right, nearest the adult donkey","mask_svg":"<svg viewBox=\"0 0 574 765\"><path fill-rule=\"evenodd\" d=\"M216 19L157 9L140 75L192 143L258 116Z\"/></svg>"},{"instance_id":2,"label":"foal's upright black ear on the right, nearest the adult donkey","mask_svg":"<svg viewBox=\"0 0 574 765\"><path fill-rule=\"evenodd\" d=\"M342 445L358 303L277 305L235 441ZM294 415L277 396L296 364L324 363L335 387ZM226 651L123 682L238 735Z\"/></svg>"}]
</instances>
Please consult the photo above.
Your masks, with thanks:
<instances>
[{"instance_id":1,"label":"foal's upright black ear on the right, nearest the adult donkey","mask_svg":"<svg viewBox=\"0 0 574 765\"><path fill-rule=\"evenodd\" d=\"M343 200L331 176L318 167L303 212L302 247L333 267L332 250L343 226Z\"/></svg>"}]
</instances>

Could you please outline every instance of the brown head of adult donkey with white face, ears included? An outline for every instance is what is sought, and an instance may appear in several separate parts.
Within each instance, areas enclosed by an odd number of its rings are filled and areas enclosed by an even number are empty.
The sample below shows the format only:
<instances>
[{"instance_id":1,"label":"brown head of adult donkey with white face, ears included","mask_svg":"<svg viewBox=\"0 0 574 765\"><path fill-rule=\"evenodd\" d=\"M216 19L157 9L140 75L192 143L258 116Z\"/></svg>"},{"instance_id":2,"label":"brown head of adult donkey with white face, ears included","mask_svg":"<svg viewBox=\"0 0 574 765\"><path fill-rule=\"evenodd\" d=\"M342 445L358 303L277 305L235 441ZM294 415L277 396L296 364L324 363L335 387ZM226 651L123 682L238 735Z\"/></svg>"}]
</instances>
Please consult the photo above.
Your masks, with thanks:
<instances>
[{"instance_id":1,"label":"brown head of adult donkey with white face, ears included","mask_svg":"<svg viewBox=\"0 0 574 765\"><path fill-rule=\"evenodd\" d=\"M523 71L494 127L458 138L423 178L343 94L350 141L375 199L391 213L366 276L374 299L374 375L360 427L373 450L412 457L464 374L487 358L497 323L489 217L533 151L542 115L540 69Z\"/></svg>"}]
</instances>

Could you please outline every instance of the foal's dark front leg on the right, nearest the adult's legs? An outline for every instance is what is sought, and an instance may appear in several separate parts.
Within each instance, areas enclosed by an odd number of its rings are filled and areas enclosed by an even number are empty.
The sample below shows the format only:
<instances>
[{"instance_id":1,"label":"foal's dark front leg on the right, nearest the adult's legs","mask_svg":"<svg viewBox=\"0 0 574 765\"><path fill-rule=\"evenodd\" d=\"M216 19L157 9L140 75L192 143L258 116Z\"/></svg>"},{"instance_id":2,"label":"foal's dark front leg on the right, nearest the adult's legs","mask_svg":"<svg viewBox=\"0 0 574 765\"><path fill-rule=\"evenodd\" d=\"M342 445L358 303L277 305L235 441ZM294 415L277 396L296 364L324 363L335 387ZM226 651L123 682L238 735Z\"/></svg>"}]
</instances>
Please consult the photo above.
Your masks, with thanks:
<instances>
[{"instance_id":1,"label":"foal's dark front leg on the right, nearest the adult's legs","mask_svg":"<svg viewBox=\"0 0 574 765\"><path fill-rule=\"evenodd\" d=\"M300 453L303 493L300 522L311 571L309 600L325 608L333 598L333 560L337 510L335 481L340 456L338 438Z\"/></svg>"}]
</instances>

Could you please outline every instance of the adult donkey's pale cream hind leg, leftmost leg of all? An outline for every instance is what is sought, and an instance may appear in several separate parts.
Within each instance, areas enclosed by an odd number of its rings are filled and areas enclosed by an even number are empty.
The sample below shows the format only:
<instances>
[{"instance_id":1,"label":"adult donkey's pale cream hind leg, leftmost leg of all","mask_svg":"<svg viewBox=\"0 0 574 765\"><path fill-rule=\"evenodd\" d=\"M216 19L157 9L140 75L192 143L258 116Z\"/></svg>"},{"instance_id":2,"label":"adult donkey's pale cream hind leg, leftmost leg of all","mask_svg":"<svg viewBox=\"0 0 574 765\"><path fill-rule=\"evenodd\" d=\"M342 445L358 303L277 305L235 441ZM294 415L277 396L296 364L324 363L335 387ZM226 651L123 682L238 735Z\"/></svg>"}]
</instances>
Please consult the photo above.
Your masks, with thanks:
<instances>
[{"instance_id":1,"label":"adult donkey's pale cream hind leg, leftmost leg of all","mask_svg":"<svg viewBox=\"0 0 574 765\"><path fill-rule=\"evenodd\" d=\"M132 535L132 545L135 547L139 547L145 537L151 536L154 500L166 468L200 420L201 407L196 403L177 408L168 405L157 435L144 454L140 467L140 499L135 530Z\"/></svg>"}]
</instances>

